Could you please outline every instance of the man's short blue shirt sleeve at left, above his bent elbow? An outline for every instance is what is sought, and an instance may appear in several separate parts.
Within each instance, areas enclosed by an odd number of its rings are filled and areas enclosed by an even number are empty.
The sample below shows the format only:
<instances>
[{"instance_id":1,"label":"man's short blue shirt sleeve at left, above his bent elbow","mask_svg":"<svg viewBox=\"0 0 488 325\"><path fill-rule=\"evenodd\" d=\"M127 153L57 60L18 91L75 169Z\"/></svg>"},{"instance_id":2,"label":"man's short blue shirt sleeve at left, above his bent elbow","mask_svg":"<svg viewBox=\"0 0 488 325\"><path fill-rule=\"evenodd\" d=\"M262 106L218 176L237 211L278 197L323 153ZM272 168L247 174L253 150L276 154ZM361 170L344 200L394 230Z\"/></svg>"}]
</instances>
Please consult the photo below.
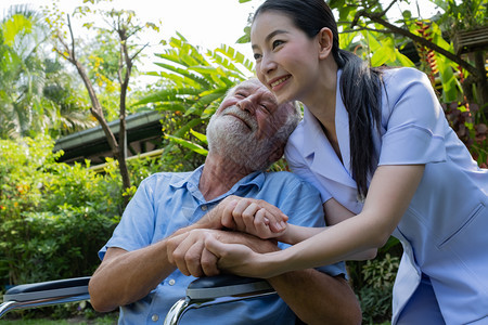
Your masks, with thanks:
<instances>
[{"instance_id":1,"label":"man's short blue shirt sleeve at left, above his bent elbow","mask_svg":"<svg viewBox=\"0 0 488 325\"><path fill-rule=\"evenodd\" d=\"M149 177L141 182L134 196L127 205L112 237L99 251L101 260L103 260L108 247L118 247L132 251L151 244L155 222L152 191L154 181L154 177Z\"/></svg>"}]
</instances>

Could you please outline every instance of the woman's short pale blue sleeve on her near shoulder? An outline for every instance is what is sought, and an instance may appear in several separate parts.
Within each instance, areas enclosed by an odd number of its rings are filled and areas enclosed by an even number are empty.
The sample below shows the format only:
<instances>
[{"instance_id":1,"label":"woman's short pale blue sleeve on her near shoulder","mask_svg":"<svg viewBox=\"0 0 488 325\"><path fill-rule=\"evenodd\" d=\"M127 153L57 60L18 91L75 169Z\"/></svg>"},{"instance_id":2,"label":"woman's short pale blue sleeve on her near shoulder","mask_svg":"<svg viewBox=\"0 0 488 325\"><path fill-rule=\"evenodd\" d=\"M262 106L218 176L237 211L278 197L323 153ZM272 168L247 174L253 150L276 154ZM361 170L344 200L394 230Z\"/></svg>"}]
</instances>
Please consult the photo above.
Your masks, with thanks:
<instances>
[{"instance_id":1,"label":"woman's short pale blue sleeve on her near shoulder","mask_svg":"<svg viewBox=\"0 0 488 325\"><path fill-rule=\"evenodd\" d=\"M446 161L446 117L425 74L401 68L385 74L378 165Z\"/></svg>"}]
</instances>

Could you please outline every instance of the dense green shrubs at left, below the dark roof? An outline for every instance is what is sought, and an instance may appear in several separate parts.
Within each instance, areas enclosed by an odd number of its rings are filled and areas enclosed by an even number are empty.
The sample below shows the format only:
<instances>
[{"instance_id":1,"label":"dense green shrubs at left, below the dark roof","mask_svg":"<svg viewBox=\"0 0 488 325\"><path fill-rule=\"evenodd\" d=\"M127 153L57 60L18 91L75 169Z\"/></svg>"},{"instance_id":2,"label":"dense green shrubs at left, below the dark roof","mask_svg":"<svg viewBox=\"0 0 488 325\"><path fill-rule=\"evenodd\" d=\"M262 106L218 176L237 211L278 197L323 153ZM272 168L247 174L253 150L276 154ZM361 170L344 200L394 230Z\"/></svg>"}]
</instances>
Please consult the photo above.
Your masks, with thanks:
<instances>
[{"instance_id":1,"label":"dense green shrubs at left, below the dark roof","mask_svg":"<svg viewBox=\"0 0 488 325\"><path fill-rule=\"evenodd\" d=\"M0 141L0 278L20 284L90 275L121 209L105 174L55 162L49 138Z\"/></svg>"}]
</instances>

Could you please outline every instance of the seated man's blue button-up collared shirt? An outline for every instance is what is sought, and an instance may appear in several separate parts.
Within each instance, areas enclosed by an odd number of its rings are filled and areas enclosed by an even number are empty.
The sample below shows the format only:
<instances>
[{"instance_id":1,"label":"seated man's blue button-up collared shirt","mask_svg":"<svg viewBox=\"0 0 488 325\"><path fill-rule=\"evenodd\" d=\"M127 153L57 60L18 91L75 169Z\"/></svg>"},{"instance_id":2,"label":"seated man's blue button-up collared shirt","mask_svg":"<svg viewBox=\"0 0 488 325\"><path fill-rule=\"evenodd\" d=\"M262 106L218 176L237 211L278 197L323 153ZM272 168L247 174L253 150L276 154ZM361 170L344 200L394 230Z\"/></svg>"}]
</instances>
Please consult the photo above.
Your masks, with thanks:
<instances>
[{"instance_id":1,"label":"seated man's blue button-up collared shirt","mask_svg":"<svg viewBox=\"0 0 488 325\"><path fill-rule=\"evenodd\" d=\"M193 172L155 173L145 179L127 206L112 238L100 250L100 258L103 259L108 247L132 251L159 242L198 221L229 195L264 199L279 207L293 224L324 225L319 192L290 172L254 172L224 195L206 202L198 191L202 168ZM280 246L285 248L283 244ZM346 274L344 263L320 270L332 276ZM185 288L193 280L176 270L145 298L121 307L119 324L162 324L171 306L185 296ZM190 310L181 324L210 321L211 324L295 324L295 315L283 300L270 296Z\"/></svg>"}]
</instances>

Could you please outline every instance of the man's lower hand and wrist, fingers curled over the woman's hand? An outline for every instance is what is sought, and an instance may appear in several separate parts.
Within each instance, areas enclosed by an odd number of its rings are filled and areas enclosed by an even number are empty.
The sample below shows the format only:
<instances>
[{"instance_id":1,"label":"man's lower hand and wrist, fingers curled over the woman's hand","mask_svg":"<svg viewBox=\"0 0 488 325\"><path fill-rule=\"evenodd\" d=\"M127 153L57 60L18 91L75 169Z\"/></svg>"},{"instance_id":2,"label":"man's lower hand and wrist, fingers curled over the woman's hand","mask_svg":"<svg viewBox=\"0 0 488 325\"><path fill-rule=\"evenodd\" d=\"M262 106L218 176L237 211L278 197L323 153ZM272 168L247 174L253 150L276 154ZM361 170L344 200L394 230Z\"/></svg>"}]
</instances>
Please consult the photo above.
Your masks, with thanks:
<instances>
[{"instance_id":1,"label":"man's lower hand and wrist, fingers curled over the woman's hand","mask_svg":"<svg viewBox=\"0 0 488 325\"><path fill-rule=\"evenodd\" d=\"M207 238L226 244L242 244L258 252L279 250L275 240L265 240L256 236L219 230L192 230L168 239L168 260L184 275L213 276L220 273L217 257L205 248Z\"/></svg>"}]
</instances>

